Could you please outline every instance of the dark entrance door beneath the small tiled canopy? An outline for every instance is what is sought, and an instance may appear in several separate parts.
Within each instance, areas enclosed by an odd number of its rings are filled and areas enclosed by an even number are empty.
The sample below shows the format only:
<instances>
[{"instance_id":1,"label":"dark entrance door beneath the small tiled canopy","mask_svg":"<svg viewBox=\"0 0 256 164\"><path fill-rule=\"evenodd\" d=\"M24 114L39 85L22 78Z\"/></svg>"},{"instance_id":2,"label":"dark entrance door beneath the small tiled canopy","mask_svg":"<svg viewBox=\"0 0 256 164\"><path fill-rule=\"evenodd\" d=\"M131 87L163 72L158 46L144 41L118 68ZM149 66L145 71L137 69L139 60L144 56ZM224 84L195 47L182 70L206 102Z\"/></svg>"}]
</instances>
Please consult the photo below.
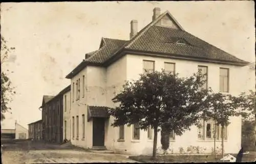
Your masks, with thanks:
<instances>
[{"instance_id":1,"label":"dark entrance door beneath the small tiled canopy","mask_svg":"<svg viewBox=\"0 0 256 164\"><path fill-rule=\"evenodd\" d=\"M93 146L104 146L104 118L93 118Z\"/></svg>"}]
</instances>

